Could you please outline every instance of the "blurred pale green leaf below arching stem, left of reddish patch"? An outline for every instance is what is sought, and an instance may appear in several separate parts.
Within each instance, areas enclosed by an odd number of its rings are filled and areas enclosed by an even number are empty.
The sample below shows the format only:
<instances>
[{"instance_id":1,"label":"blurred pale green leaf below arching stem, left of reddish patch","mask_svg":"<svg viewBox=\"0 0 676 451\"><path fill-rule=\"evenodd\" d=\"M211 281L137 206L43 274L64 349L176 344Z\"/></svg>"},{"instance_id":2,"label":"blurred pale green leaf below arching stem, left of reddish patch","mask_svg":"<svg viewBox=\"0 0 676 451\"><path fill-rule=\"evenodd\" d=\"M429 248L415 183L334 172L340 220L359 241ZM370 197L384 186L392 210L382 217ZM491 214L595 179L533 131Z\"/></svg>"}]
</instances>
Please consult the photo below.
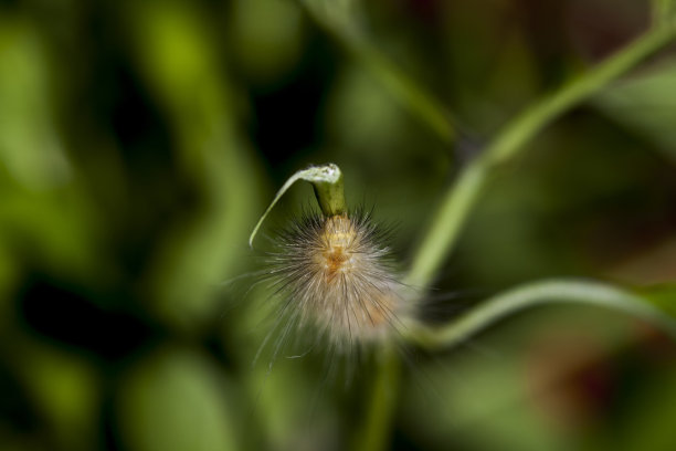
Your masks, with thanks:
<instances>
[{"instance_id":1,"label":"blurred pale green leaf below arching stem, left of reddish patch","mask_svg":"<svg viewBox=\"0 0 676 451\"><path fill-rule=\"evenodd\" d=\"M434 439L433 449L564 450L527 398L518 359L460 358L423 368L427 392L408 405L411 428ZM422 403L425 403L423 406ZM458 444L460 443L460 444ZM462 445L461 445L462 444Z\"/></svg>"}]
</instances>

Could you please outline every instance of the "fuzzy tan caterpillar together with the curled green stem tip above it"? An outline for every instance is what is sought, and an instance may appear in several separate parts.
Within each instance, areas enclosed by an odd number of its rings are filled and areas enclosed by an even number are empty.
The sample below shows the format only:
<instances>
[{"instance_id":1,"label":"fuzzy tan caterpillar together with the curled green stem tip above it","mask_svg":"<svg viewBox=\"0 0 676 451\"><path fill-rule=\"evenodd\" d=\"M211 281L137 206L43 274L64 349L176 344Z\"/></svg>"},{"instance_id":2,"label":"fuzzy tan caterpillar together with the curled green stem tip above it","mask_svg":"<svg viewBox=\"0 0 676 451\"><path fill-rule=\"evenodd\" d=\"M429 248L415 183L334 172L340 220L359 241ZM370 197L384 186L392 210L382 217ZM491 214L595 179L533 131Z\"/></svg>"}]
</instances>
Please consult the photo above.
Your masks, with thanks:
<instances>
[{"instance_id":1,"label":"fuzzy tan caterpillar together with the curled green stem tip above it","mask_svg":"<svg viewBox=\"0 0 676 451\"><path fill-rule=\"evenodd\" d=\"M370 211L346 208L336 165L296 172L261 218L251 242L270 209L297 179L313 183L321 212L291 221L274 237L275 249L268 253L267 279L283 300L278 321L287 322L281 339L305 326L326 336L339 352L389 339L404 308L404 285L385 244L387 231Z\"/></svg>"}]
</instances>

